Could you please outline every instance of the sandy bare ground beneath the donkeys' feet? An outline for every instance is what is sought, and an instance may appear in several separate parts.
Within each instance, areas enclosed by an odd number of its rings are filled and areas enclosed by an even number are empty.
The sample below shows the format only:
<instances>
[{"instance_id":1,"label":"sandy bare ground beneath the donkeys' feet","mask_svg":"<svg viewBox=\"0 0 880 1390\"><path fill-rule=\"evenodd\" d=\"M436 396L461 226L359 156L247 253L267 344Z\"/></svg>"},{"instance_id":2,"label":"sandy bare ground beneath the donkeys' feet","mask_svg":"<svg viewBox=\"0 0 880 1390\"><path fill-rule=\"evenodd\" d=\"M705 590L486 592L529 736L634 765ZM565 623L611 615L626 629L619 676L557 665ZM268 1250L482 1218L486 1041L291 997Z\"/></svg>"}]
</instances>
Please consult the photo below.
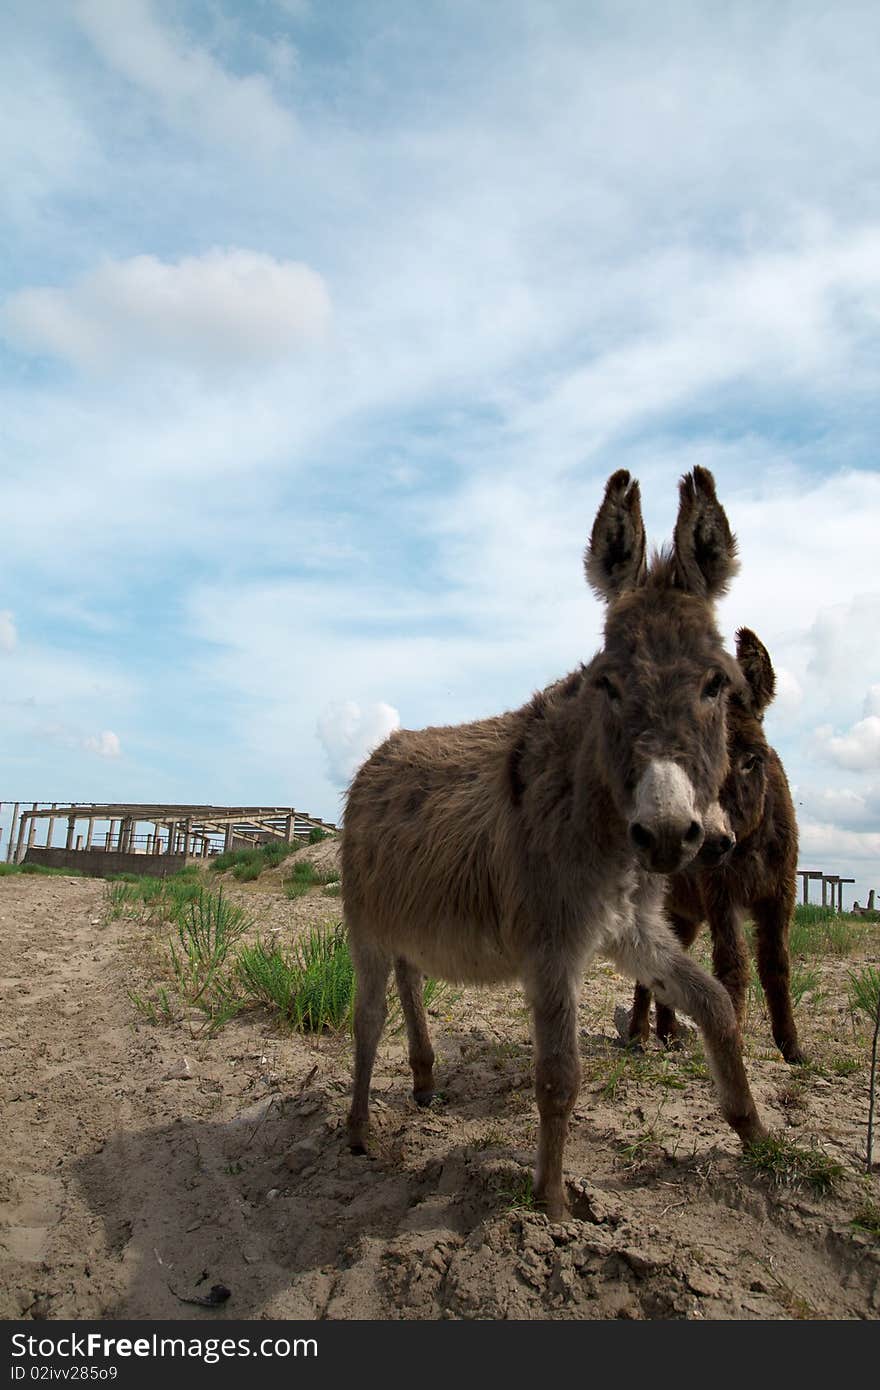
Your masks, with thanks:
<instances>
[{"instance_id":1,"label":"sandy bare ground beneath the donkeys' feet","mask_svg":"<svg viewBox=\"0 0 880 1390\"><path fill-rule=\"evenodd\" d=\"M331 847L318 847L327 856ZM320 888L232 890L263 933L332 922ZM537 1111L517 990L434 1006L441 1094L418 1111L400 1033L375 1073L371 1158L342 1122L350 1040L242 1015L215 1036L153 1024L128 990L163 933L111 920L104 885L0 878L0 1315L6 1318L873 1318L880 1241L855 1229L867 1047L854 960L816 962L799 1011L817 1068L792 1073L758 1008L748 1070L769 1123L845 1166L831 1197L751 1176L694 1040L624 1055L630 987L582 990L584 1083L566 1151L574 1215L528 1208ZM858 958L880 960L879 935ZM184 1059L189 1074L181 1076ZM858 1063L858 1070L837 1074ZM177 1076L175 1076L177 1073ZM186 1298L224 1284L229 1298Z\"/></svg>"}]
</instances>

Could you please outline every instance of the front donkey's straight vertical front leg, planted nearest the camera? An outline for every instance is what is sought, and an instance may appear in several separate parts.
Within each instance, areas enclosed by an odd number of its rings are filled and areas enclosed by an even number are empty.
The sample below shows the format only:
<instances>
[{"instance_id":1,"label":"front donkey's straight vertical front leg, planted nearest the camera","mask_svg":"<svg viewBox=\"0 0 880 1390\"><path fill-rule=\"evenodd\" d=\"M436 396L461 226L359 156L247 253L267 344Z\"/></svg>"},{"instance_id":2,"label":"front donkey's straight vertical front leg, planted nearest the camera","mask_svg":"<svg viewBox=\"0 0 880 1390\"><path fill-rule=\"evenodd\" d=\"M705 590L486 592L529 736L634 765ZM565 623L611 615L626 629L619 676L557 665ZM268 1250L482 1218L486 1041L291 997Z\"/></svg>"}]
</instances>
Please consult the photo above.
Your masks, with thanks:
<instances>
[{"instance_id":1,"label":"front donkey's straight vertical front leg, planted nearest the camera","mask_svg":"<svg viewBox=\"0 0 880 1390\"><path fill-rule=\"evenodd\" d=\"M577 997L564 983L553 991L532 994L535 1022L535 1098L541 1119L535 1200L551 1220L563 1220L567 1204L562 1183L562 1156L569 1116L581 1084L577 1052Z\"/></svg>"}]
</instances>

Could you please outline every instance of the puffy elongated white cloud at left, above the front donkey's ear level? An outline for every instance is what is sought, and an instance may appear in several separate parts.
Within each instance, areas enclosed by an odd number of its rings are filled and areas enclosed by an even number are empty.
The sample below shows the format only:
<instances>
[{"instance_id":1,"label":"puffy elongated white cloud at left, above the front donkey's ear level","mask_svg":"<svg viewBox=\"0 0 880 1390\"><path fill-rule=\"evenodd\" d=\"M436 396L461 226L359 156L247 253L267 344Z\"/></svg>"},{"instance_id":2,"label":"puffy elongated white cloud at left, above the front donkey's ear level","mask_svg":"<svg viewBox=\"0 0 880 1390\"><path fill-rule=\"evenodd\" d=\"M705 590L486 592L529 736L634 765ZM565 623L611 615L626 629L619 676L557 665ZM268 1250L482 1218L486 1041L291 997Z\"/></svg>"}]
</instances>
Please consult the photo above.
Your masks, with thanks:
<instances>
[{"instance_id":1,"label":"puffy elongated white cloud at left, above the front donkey's ear level","mask_svg":"<svg viewBox=\"0 0 880 1390\"><path fill-rule=\"evenodd\" d=\"M197 367L267 363L321 338L329 296L299 261L232 249L165 264L106 261L71 289L11 295L0 327L18 346L76 366L149 356Z\"/></svg>"}]
</instances>

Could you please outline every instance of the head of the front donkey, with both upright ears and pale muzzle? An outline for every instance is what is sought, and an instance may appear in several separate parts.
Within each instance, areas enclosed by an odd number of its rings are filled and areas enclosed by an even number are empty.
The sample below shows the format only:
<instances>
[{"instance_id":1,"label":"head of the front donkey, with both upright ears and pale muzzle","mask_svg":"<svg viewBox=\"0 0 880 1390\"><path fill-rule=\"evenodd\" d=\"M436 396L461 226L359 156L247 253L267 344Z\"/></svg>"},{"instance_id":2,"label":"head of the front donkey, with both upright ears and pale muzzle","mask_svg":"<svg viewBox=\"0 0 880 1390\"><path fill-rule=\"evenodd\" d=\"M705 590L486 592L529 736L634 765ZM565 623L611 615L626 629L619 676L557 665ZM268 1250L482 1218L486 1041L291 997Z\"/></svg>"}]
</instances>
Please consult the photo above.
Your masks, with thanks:
<instances>
[{"instance_id":1,"label":"head of the front donkey, with both upright ears and pale muzzle","mask_svg":"<svg viewBox=\"0 0 880 1390\"><path fill-rule=\"evenodd\" d=\"M613 474L584 560L608 603L605 646L588 669L602 773L639 862L674 873L717 809L728 694L742 685L715 624L737 542L712 474L694 468L681 480L673 545L649 564L638 484Z\"/></svg>"}]
</instances>

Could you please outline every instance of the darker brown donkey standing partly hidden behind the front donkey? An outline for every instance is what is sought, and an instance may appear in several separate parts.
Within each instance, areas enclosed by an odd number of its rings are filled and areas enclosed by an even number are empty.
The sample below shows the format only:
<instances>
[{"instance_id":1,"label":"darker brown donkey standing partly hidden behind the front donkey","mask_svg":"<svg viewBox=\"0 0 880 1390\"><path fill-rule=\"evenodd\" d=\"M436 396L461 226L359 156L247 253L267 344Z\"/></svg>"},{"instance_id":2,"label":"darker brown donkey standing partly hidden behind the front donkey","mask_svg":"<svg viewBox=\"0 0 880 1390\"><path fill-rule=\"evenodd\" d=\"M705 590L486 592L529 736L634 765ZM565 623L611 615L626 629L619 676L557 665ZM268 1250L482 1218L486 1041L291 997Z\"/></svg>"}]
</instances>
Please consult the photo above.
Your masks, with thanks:
<instances>
[{"instance_id":1,"label":"darker brown donkey standing partly hidden behind the front donkey","mask_svg":"<svg viewBox=\"0 0 880 1390\"><path fill-rule=\"evenodd\" d=\"M735 837L735 848L717 866L712 855L724 851L706 837L685 873L670 878L666 910L681 945L692 945L703 922L712 931L715 973L735 1009L745 1016L749 960L742 917L755 923L758 974L767 999L773 1037L787 1062L805 1062L791 1012L788 927L794 912L798 867L798 823L779 755L763 733L763 713L776 691L767 649L748 627L737 632L737 657L745 677L727 709L730 771L719 801ZM630 1038L648 1041L651 990L635 986ZM676 1013L658 1002L658 1037L678 1036Z\"/></svg>"}]
</instances>

